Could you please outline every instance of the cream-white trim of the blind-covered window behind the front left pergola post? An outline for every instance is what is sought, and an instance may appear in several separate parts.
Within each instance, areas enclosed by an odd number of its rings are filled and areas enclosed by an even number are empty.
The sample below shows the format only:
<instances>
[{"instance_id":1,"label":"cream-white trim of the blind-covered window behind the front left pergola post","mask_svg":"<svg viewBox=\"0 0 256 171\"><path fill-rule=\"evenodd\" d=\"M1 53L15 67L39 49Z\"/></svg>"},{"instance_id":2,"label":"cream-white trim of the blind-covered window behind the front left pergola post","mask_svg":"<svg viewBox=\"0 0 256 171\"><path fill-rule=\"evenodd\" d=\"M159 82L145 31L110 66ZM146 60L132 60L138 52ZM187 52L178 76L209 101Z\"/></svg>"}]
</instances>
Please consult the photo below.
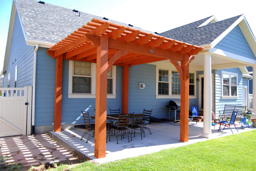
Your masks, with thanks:
<instances>
[{"instance_id":1,"label":"cream-white trim of the blind-covered window behind the front left pergola post","mask_svg":"<svg viewBox=\"0 0 256 171\"><path fill-rule=\"evenodd\" d=\"M107 98L116 98L116 66L112 67L113 94L107 94ZM73 61L69 61L69 88L68 98L96 98L96 64L92 63L91 92L90 94L72 94Z\"/></svg>"}]
</instances>

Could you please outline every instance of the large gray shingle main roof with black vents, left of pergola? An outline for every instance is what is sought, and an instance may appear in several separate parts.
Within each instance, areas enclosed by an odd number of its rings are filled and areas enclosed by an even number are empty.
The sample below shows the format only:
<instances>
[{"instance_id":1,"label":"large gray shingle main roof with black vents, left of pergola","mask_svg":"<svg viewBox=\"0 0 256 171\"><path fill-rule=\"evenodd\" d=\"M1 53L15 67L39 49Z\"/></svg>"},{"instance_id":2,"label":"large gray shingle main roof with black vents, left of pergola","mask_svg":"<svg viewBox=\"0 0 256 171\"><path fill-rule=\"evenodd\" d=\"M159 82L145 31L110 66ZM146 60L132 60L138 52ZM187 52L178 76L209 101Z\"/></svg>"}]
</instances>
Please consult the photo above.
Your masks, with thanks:
<instances>
[{"instance_id":1,"label":"large gray shingle main roof with black vents, left of pergola","mask_svg":"<svg viewBox=\"0 0 256 171\"><path fill-rule=\"evenodd\" d=\"M57 43L93 18L104 20L103 17L84 12L80 12L79 17L79 12L73 12L73 9L41 4L35 0L16 0L16 2L28 40ZM105 21L130 27L128 24L110 19ZM131 28L153 33L136 26Z\"/></svg>"}]
</instances>

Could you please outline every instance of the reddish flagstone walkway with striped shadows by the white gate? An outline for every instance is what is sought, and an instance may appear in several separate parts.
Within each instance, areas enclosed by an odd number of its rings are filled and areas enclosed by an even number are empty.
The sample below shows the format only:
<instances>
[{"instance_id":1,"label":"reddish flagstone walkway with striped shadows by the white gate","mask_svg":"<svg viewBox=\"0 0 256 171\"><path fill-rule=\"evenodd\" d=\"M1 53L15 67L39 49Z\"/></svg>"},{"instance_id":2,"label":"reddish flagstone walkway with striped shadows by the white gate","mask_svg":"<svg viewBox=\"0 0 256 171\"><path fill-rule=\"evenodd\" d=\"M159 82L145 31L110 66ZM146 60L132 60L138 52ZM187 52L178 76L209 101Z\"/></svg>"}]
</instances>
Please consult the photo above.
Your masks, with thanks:
<instances>
[{"instance_id":1,"label":"reddish flagstone walkway with striped shadows by the white gate","mask_svg":"<svg viewBox=\"0 0 256 171\"><path fill-rule=\"evenodd\" d=\"M24 166L56 163L75 158L47 134L0 138L0 155ZM1 161L1 160L0 160ZM5 163L0 163L0 170Z\"/></svg>"}]
</instances>

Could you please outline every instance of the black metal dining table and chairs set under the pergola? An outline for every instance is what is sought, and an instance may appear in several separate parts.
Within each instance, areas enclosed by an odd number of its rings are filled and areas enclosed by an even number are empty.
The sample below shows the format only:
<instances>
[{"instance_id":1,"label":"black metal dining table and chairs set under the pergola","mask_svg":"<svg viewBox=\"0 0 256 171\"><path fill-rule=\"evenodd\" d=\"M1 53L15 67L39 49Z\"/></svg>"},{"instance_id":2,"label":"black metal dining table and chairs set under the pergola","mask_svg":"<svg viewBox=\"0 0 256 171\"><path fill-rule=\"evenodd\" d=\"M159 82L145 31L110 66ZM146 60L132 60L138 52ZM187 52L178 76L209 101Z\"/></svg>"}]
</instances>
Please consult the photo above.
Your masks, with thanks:
<instances>
[{"instance_id":1,"label":"black metal dining table and chairs set under the pergola","mask_svg":"<svg viewBox=\"0 0 256 171\"><path fill-rule=\"evenodd\" d=\"M106 142L108 140L110 141L110 136L116 136L117 137L117 144L118 144L118 133L121 132L121 140L124 138L124 135L127 134L128 136L128 142L130 142L129 134L131 135L131 141L132 141L132 134L135 137L135 133L139 133L142 139L142 133L145 137L145 130L148 130L151 134L151 130L146 127L146 125L149 123L152 110L143 110L143 113L141 114L120 114L120 108L119 109L109 109L110 115L107 115L107 120L109 122L106 123L107 127L107 138ZM95 135L95 124L93 123L93 119L95 119L95 115L89 116L89 113L84 113L83 111L82 115L84 118L84 124L86 130L83 135L81 136L81 140L84 138L85 135L89 135L86 139L86 143ZM111 131L111 135L110 135ZM114 131L114 135L113 135ZM126 133L127 131L127 133ZM139 132L136 132L139 131ZM117 134L117 135L115 135ZM120 133L119 133L120 134Z\"/></svg>"}]
</instances>

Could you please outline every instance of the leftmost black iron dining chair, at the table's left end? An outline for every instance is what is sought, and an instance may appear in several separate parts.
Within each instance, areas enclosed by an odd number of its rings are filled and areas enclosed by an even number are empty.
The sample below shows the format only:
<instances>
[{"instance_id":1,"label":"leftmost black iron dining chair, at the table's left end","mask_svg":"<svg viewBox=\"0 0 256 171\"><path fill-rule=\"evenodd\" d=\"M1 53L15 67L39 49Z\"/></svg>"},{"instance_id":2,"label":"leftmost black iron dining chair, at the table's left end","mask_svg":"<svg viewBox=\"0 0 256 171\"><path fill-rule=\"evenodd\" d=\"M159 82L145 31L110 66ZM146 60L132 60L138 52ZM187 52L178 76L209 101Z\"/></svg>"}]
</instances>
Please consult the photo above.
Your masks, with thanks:
<instances>
[{"instance_id":1,"label":"leftmost black iron dining chair, at the table's left end","mask_svg":"<svg viewBox=\"0 0 256 171\"><path fill-rule=\"evenodd\" d=\"M83 111L81 111L82 114L83 114L83 118L84 118L84 123L85 123L85 132L83 133L82 135L82 138L81 140L84 138L84 136L86 134L88 134L88 138L86 140L86 143L92 138L94 137L94 134L95 134L95 124L91 123L91 119L89 117L89 112L87 113L84 113Z\"/></svg>"}]
</instances>

